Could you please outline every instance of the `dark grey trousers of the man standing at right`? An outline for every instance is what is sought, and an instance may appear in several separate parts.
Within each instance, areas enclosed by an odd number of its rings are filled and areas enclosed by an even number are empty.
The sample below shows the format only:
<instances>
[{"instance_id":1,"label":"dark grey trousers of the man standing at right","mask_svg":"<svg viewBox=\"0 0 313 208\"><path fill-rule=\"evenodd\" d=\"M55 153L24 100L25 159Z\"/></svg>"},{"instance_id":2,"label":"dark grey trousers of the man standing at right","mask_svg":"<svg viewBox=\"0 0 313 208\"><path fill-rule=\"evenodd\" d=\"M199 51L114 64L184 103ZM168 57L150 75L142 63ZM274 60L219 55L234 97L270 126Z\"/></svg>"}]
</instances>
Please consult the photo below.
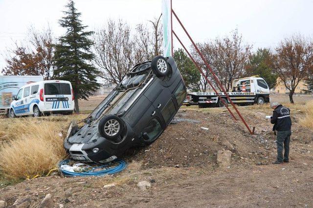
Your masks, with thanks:
<instances>
[{"instance_id":1,"label":"dark grey trousers of the man standing at right","mask_svg":"<svg viewBox=\"0 0 313 208\"><path fill-rule=\"evenodd\" d=\"M277 161L289 161L289 143L290 143L291 130L278 131L276 137L277 143ZM285 149L283 157L283 148Z\"/></svg>"}]
</instances>

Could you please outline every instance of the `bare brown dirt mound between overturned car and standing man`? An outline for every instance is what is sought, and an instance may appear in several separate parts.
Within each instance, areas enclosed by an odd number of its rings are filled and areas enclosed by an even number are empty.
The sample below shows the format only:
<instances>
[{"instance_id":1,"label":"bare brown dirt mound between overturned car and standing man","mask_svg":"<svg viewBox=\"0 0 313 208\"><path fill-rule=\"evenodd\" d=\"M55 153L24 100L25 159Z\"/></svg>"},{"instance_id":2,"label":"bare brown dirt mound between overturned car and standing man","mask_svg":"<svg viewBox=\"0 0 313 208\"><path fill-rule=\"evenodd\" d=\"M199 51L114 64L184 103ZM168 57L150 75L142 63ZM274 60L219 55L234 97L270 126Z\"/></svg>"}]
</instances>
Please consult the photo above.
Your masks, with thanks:
<instances>
[{"instance_id":1,"label":"bare brown dirt mound between overturned car and standing man","mask_svg":"<svg viewBox=\"0 0 313 208\"><path fill-rule=\"evenodd\" d=\"M217 166L217 152L222 149L234 153L234 164L243 156L249 158L250 163L268 158L264 136L251 136L245 127L240 122L234 122L228 113L180 110L176 117L179 119L175 119L174 124L170 124L156 142L140 150L135 149L134 155L129 159L142 160L146 168L214 168Z\"/></svg>"}]
</instances>

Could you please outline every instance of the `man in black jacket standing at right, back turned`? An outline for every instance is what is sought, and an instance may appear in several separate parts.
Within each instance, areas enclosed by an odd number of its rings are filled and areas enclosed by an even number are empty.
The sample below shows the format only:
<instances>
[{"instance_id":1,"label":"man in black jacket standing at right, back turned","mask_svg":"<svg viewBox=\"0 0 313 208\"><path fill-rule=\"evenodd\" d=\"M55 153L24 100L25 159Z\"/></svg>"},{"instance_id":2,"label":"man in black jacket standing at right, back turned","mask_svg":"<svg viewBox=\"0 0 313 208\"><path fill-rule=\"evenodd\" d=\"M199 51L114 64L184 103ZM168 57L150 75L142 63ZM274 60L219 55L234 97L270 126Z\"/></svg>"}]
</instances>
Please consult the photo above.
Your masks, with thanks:
<instances>
[{"instance_id":1,"label":"man in black jacket standing at right, back turned","mask_svg":"<svg viewBox=\"0 0 313 208\"><path fill-rule=\"evenodd\" d=\"M277 159L272 164L289 163L289 143L291 136L290 109L278 102L270 103L270 108L274 110L270 118L270 123L274 124L273 131L277 131ZM283 149L285 149L284 156Z\"/></svg>"}]
</instances>

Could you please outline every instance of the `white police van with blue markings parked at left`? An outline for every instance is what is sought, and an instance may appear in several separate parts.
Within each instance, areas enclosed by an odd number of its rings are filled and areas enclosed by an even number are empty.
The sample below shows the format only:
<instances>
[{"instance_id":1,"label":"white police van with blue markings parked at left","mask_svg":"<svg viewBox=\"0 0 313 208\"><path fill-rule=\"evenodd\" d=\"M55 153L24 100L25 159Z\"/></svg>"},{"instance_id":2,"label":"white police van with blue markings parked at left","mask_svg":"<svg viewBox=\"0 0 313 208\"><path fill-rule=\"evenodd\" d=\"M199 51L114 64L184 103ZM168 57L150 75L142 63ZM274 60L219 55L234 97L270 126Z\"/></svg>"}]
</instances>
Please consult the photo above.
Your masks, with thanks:
<instances>
[{"instance_id":1,"label":"white police van with blue markings parked at left","mask_svg":"<svg viewBox=\"0 0 313 208\"><path fill-rule=\"evenodd\" d=\"M62 113L74 110L73 88L69 81L46 80L23 86L10 105L10 117Z\"/></svg>"}]
</instances>

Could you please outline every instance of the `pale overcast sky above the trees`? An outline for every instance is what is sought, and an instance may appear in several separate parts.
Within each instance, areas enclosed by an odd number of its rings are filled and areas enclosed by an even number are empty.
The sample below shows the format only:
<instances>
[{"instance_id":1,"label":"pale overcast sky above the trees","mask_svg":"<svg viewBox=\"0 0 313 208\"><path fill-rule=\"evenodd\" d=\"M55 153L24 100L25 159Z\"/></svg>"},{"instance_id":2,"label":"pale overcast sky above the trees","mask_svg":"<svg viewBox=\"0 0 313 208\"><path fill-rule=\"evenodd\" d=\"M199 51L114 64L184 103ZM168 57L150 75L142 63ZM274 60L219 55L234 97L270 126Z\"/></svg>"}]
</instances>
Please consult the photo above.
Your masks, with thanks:
<instances>
[{"instance_id":1,"label":"pale overcast sky above the trees","mask_svg":"<svg viewBox=\"0 0 313 208\"><path fill-rule=\"evenodd\" d=\"M108 19L124 19L131 27L161 14L162 0L74 0L83 24L98 30ZM67 0L0 0L0 71L6 50L25 39L30 26L48 24L53 35L63 35L58 24ZM313 35L313 0L172 0L173 10L195 42L229 35L238 28L246 43L274 48L294 33ZM173 17L174 18L174 17ZM188 38L173 19L173 29L185 45ZM179 48L174 39L174 48Z\"/></svg>"}]
</instances>

